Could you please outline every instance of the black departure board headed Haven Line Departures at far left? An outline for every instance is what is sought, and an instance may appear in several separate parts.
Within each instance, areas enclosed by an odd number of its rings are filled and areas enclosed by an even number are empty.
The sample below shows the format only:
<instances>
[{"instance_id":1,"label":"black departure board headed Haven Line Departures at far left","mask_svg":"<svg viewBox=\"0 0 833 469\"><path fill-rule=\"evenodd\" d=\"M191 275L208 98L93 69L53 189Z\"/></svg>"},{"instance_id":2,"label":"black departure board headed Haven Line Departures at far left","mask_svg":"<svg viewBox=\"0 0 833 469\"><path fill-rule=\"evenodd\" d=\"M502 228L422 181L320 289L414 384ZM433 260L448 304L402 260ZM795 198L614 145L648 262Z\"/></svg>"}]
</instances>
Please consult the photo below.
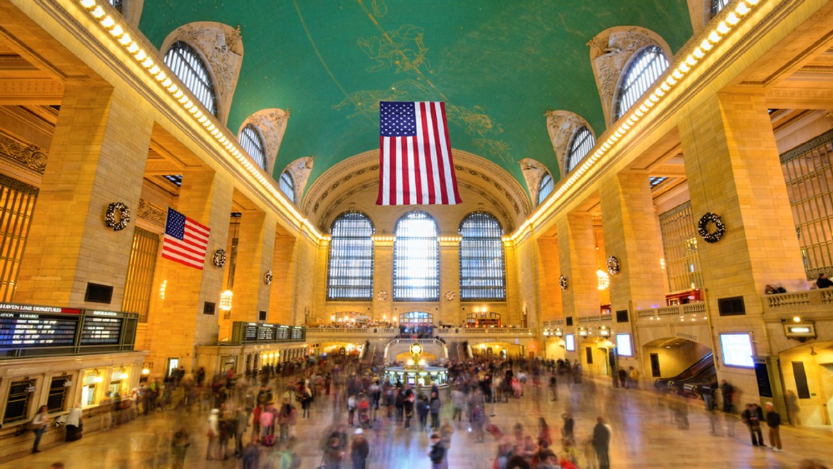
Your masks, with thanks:
<instances>
[{"instance_id":1,"label":"black departure board headed Haven Line Departures at far left","mask_svg":"<svg viewBox=\"0 0 833 469\"><path fill-rule=\"evenodd\" d=\"M77 316L0 310L0 349L72 347L77 327Z\"/></svg>"}]
</instances>

